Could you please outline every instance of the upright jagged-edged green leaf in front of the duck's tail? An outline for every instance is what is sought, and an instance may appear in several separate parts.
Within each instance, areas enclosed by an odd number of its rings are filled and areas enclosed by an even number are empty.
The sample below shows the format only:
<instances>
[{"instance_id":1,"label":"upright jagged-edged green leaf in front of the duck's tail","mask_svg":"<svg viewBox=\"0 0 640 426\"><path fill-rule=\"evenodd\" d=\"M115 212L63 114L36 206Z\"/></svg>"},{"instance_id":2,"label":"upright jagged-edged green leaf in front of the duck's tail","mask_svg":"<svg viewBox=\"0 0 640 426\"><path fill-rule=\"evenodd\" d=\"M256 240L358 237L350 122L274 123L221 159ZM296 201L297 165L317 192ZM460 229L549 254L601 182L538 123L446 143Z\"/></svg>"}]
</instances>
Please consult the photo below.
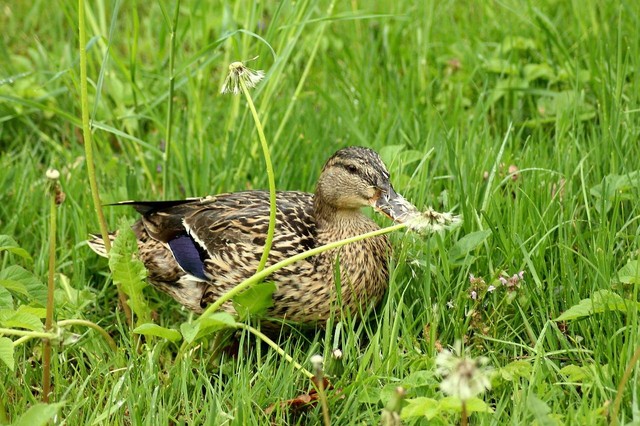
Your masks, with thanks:
<instances>
[{"instance_id":1,"label":"upright jagged-edged green leaf in front of the duck's tail","mask_svg":"<svg viewBox=\"0 0 640 426\"><path fill-rule=\"evenodd\" d=\"M137 253L136 236L123 221L109 253L109 269L113 274L113 281L129 296L128 303L137 316L138 324L143 324L151 321L151 308L142 294L142 290L148 285L147 270L137 258Z\"/></svg>"}]
</instances>

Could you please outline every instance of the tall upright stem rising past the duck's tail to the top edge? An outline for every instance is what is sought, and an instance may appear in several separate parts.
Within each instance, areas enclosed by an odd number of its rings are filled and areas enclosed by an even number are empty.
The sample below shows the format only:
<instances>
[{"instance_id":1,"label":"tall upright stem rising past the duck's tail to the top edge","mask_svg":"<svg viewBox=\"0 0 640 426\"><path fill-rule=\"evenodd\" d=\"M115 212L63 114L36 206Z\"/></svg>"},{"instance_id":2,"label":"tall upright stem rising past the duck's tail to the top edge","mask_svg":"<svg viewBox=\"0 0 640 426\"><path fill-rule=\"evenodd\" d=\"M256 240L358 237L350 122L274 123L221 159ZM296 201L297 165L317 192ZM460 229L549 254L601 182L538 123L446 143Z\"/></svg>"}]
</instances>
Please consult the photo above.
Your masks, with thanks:
<instances>
[{"instance_id":1,"label":"tall upright stem rising past the duck's tail to the top edge","mask_svg":"<svg viewBox=\"0 0 640 426\"><path fill-rule=\"evenodd\" d=\"M87 78L87 29L85 23L84 0L78 0L78 38L80 44L80 106L82 109L82 134L84 138L84 150L87 161L87 174L89 175L89 186L91 187L91 198L93 198L93 207L98 217L100 225L100 235L104 241L104 249L107 253L111 251L111 241L109 240L109 231L107 230L107 221L102 211L102 203L100 202L100 193L98 192L98 181L96 179L96 168L93 159L93 138L91 135L91 123L89 122L89 93ZM120 286L118 289L118 299L122 311L127 318L127 324L133 324L131 317L131 308L127 303L127 296L122 292Z\"/></svg>"}]
</instances>

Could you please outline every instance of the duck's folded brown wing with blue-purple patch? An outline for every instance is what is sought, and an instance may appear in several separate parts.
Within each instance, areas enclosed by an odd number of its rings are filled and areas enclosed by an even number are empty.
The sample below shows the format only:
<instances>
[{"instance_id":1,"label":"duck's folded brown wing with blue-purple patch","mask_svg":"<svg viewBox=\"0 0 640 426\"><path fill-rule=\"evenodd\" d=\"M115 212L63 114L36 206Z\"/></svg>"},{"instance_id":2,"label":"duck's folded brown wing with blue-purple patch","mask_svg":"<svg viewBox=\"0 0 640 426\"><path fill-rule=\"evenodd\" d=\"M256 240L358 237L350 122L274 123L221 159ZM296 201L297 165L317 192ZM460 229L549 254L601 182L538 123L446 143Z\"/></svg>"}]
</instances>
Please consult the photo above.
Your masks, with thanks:
<instances>
[{"instance_id":1,"label":"duck's folded brown wing with blue-purple patch","mask_svg":"<svg viewBox=\"0 0 640 426\"><path fill-rule=\"evenodd\" d=\"M253 264L257 265L262 253L269 224L267 192L128 204L143 214L146 233L164 243L185 272L203 281L215 281L219 274L227 273L222 269L255 270ZM312 195L281 192L277 206L274 257L313 247Z\"/></svg>"}]
</instances>

